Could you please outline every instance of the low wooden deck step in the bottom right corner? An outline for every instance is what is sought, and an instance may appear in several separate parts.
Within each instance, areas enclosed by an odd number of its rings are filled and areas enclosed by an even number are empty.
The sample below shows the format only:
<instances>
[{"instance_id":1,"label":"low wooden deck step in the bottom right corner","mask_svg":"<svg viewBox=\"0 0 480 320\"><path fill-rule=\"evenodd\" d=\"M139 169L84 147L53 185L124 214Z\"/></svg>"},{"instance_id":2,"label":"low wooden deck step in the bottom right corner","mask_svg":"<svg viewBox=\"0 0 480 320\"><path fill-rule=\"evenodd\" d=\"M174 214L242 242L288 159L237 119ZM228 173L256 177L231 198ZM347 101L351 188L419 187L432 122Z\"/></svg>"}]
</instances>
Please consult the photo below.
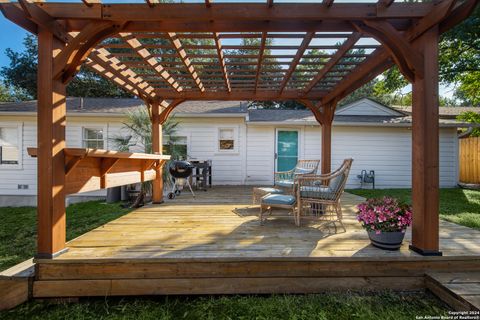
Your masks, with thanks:
<instances>
[{"instance_id":1,"label":"low wooden deck step in the bottom right corner","mask_svg":"<svg viewBox=\"0 0 480 320\"><path fill-rule=\"evenodd\" d=\"M425 285L457 311L480 309L480 272L431 272Z\"/></svg>"}]
</instances>

